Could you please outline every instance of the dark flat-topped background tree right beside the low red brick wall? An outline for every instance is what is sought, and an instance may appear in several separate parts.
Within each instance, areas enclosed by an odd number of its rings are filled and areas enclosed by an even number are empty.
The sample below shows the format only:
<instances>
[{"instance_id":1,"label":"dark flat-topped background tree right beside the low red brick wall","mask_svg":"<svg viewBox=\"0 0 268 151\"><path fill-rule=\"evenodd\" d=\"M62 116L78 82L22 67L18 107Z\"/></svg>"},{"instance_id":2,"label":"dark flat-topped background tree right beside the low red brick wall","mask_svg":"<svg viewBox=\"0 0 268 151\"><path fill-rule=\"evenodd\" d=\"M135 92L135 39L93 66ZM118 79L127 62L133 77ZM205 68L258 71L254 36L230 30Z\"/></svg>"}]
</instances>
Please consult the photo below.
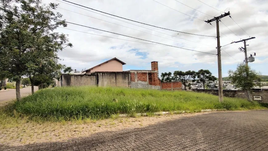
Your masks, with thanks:
<instances>
[{"instance_id":1,"label":"dark flat-topped background tree right beside the low red brick wall","mask_svg":"<svg viewBox=\"0 0 268 151\"><path fill-rule=\"evenodd\" d=\"M173 78L175 81L180 81L184 85L184 89L186 90L186 82L190 79L194 79L196 77L195 71L174 71Z\"/></svg>"}]
</instances>

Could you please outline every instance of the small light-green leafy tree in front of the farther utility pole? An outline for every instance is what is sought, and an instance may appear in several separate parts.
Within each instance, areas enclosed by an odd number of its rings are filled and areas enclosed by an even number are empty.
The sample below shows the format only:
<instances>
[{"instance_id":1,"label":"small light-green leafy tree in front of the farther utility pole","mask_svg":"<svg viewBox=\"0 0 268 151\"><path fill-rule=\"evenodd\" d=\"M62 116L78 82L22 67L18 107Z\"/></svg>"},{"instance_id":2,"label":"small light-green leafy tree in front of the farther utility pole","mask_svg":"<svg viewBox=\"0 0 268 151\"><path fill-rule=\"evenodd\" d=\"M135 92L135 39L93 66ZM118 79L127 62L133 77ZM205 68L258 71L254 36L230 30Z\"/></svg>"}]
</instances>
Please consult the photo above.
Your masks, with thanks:
<instances>
[{"instance_id":1,"label":"small light-green leafy tree in front of the farther utility pole","mask_svg":"<svg viewBox=\"0 0 268 151\"><path fill-rule=\"evenodd\" d=\"M237 65L235 71L228 71L229 77L232 82L236 84L236 87L240 87L242 90L247 90L248 100L251 101L250 89L254 86L259 86L261 83L261 73L251 69L245 63Z\"/></svg>"}]
</instances>

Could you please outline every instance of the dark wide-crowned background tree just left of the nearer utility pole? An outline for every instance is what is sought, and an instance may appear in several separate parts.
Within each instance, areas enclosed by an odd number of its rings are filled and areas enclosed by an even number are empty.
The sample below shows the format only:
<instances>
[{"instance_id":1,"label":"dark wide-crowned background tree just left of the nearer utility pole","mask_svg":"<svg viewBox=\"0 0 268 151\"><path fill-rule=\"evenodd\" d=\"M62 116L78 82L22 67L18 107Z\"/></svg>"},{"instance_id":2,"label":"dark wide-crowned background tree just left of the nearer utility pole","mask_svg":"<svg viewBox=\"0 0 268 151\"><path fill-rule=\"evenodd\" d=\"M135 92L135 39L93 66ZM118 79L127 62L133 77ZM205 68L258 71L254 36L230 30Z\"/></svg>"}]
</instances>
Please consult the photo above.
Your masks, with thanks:
<instances>
[{"instance_id":1,"label":"dark wide-crowned background tree just left of the nearer utility pole","mask_svg":"<svg viewBox=\"0 0 268 151\"><path fill-rule=\"evenodd\" d=\"M197 75L197 81L203 83L204 89L205 89L205 82L217 80L217 78L214 77L209 70L200 69L198 70L196 75Z\"/></svg>"}]
</instances>

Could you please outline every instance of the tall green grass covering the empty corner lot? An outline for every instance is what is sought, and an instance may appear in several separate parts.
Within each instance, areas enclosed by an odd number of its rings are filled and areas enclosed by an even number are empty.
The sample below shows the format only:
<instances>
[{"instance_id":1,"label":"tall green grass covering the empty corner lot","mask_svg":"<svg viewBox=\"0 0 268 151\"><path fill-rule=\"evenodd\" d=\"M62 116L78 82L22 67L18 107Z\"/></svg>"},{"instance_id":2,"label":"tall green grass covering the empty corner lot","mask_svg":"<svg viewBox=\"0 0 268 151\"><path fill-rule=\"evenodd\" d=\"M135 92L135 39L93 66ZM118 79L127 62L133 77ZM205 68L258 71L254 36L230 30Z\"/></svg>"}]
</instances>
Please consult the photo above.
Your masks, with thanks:
<instances>
[{"instance_id":1,"label":"tall green grass covering the empty corner lot","mask_svg":"<svg viewBox=\"0 0 268 151\"><path fill-rule=\"evenodd\" d=\"M256 102L186 91L160 91L111 87L44 89L15 103L15 110L43 120L103 119L114 114L202 109L261 109Z\"/></svg>"}]
</instances>

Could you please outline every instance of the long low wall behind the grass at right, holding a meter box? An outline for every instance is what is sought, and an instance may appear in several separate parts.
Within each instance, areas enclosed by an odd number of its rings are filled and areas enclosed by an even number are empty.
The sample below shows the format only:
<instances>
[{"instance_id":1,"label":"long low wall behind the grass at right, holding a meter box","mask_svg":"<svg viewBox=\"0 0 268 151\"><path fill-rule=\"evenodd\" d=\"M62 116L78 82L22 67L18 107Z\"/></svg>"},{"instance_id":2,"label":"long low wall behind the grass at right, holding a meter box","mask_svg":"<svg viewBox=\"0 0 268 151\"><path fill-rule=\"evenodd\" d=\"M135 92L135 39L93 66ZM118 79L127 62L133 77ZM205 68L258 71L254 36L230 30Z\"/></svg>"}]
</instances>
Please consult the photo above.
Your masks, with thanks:
<instances>
[{"instance_id":1,"label":"long low wall behind the grass at right, holding a meter box","mask_svg":"<svg viewBox=\"0 0 268 151\"><path fill-rule=\"evenodd\" d=\"M201 93L209 93L213 95L219 95L219 90L204 90L204 89L193 89L192 91L201 92ZM223 90L223 96L231 97L231 98L243 98L247 99L247 92L244 90ZM251 91L251 99L254 100L254 96L261 96L262 101L268 103L268 90L262 91Z\"/></svg>"}]
</instances>

